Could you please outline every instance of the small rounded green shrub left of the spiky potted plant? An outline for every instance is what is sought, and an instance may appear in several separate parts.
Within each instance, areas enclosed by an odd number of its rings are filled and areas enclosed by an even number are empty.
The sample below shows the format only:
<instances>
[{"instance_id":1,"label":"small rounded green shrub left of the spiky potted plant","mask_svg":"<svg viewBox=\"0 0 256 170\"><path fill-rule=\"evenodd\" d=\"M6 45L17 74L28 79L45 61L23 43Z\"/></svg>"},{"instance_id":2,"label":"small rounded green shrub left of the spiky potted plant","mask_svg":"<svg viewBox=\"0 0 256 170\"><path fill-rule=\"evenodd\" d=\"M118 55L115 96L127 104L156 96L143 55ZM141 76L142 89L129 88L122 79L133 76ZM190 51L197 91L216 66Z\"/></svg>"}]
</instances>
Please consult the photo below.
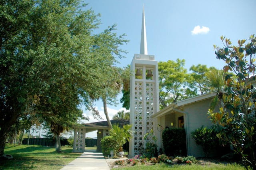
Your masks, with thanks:
<instances>
[{"instance_id":1,"label":"small rounded green shrub left of the spiky potted plant","mask_svg":"<svg viewBox=\"0 0 256 170\"><path fill-rule=\"evenodd\" d=\"M101 139L102 154L104 156L110 155L110 150L117 151L118 144L114 140L113 136L105 136Z\"/></svg>"}]
</instances>

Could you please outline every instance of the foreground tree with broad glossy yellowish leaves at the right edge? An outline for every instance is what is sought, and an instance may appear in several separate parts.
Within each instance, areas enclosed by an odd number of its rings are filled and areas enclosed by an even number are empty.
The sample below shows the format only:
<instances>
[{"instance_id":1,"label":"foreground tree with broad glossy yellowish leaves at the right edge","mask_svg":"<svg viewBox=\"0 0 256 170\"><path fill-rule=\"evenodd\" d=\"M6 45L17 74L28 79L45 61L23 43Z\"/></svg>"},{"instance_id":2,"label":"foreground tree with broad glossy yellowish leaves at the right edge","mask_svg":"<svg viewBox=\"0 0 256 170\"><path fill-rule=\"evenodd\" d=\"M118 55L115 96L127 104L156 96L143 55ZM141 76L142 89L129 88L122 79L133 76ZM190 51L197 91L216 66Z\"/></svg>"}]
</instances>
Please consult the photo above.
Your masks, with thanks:
<instances>
[{"instance_id":1,"label":"foreground tree with broad glossy yellowish leaves at the right edge","mask_svg":"<svg viewBox=\"0 0 256 170\"><path fill-rule=\"evenodd\" d=\"M256 37L250 36L246 40L238 40L238 46L231 45L229 39L221 36L223 48L214 45L216 57L226 62L223 70L225 75L225 89L227 94L223 95L224 106L220 112L214 113L209 110L208 114L217 126L217 137L223 144L230 144L238 153L244 164L256 169L255 160L255 98L254 88L256 70L255 53ZM234 74L230 74L233 72ZM248 155L246 153L248 150Z\"/></svg>"}]
</instances>

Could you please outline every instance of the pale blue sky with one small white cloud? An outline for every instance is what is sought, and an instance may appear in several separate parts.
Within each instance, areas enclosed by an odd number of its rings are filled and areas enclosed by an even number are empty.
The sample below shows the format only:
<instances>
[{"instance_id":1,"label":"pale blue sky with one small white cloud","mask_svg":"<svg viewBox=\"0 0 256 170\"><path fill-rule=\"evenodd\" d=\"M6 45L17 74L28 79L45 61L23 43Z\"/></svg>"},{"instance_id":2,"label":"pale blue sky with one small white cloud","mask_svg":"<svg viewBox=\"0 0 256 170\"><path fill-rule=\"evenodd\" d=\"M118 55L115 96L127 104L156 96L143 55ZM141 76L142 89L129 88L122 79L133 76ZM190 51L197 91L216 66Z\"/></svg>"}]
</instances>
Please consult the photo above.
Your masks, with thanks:
<instances>
[{"instance_id":1,"label":"pale blue sky with one small white cloud","mask_svg":"<svg viewBox=\"0 0 256 170\"><path fill-rule=\"evenodd\" d=\"M185 59L188 70L193 64L222 69L225 63L216 59L213 49L213 44L223 46L220 36L237 45L238 39L256 33L256 0L85 0L84 3L88 3L87 9L101 14L98 31L117 24L117 34L125 33L130 40L121 47L128 54L119 60L120 67L130 64L134 54L140 53L143 4L148 54L155 55L157 61ZM97 102L96 106L104 118L102 103ZM108 107L110 118L122 109L121 104ZM91 117L88 111L84 114ZM91 118L89 122L94 121ZM96 132L86 136L95 137Z\"/></svg>"}]
</instances>

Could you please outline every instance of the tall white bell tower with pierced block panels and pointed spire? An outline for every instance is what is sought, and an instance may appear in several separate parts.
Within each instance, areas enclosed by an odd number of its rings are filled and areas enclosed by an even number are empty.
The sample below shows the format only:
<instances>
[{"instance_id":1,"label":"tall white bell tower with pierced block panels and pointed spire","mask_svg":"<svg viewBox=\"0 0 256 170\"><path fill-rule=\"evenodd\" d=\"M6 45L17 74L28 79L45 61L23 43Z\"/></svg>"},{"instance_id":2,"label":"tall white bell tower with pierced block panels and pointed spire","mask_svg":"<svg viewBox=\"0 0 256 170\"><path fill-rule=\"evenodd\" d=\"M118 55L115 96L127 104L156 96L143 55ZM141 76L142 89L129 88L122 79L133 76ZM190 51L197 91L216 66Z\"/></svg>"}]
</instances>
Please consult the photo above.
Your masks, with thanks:
<instances>
[{"instance_id":1,"label":"tall white bell tower with pierced block panels and pointed spire","mask_svg":"<svg viewBox=\"0 0 256 170\"><path fill-rule=\"evenodd\" d=\"M146 146L144 135L156 131L155 121L150 116L159 111L158 62L154 55L148 55L144 6L140 54L134 54L130 68L134 73L130 77L130 124L135 133L130 140L129 154L134 156ZM153 141L149 138L147 142Z\"/></svg>"}]
</instances>

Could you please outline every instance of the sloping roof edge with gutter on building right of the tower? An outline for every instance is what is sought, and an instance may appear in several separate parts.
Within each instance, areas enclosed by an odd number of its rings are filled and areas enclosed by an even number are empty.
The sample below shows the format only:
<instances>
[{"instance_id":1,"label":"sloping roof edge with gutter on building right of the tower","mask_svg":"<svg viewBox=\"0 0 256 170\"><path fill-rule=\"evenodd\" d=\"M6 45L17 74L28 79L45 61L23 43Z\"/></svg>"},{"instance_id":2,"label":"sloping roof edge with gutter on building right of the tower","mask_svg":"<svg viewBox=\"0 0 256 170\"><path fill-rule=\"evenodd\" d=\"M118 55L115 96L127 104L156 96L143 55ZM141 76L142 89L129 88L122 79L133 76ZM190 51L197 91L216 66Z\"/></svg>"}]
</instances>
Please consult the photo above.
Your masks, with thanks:
<instances>
[{"instance_id":1,"label":"sloping roof edge with gutter on building right of the tower","mask_svg":"<svg viewBox=\"0 0 256 170\"><path fill-rule=\"evenodd\" d=\"M179 108L179 107L182 107L182 106L187 105L187 104L192 104L192 103L195 103L195 102L199 102L201 100L206 100L208 98L213 98L214 96L216 96L215 93L206 93L206 94L201 94L201 95L198 95L198 96L194 96L192 98L187 98L187 99L184 99L184 100L180 100L178 102L174 102L174 103L170 104L169 106L167 106L166 108L163 108L159 112L156 112L154 115L151 116L151 118L158 118L159 116L162 116L162 115L166 114L167 112L173 111L174 108Z\"/></svg>"}]
</instances>

